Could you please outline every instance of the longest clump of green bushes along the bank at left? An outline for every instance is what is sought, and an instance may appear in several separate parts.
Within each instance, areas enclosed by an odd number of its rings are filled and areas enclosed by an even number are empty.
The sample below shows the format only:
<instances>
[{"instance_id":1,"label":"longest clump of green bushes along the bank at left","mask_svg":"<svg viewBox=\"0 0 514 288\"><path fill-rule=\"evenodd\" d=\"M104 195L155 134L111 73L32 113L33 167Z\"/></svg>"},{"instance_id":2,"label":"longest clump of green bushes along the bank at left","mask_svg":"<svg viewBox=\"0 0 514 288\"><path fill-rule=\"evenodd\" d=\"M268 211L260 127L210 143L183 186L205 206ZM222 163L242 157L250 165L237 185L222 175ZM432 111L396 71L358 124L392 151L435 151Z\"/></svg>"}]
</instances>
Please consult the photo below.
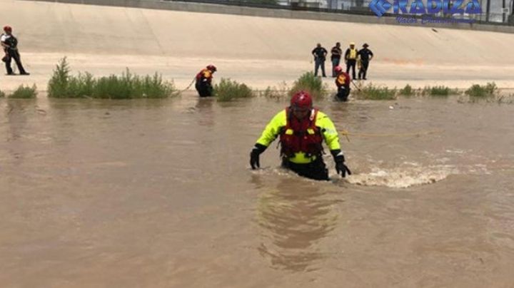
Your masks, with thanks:
<instances>
[{"instance_id":1,"label":"longest clump of green bushes along the bank at left","mask_svg":"<svg viewBox=\"0 0 514 288\"><path fill-rule=\"evenodd\" d=\"M158 73L153 76L133 75L127 68L121 76L94 78L91 73L71 76L66 57L57 64L48 83L52 98L166 98L176 94L173 81L163 81Z\"/></svg>"}]
</instances>

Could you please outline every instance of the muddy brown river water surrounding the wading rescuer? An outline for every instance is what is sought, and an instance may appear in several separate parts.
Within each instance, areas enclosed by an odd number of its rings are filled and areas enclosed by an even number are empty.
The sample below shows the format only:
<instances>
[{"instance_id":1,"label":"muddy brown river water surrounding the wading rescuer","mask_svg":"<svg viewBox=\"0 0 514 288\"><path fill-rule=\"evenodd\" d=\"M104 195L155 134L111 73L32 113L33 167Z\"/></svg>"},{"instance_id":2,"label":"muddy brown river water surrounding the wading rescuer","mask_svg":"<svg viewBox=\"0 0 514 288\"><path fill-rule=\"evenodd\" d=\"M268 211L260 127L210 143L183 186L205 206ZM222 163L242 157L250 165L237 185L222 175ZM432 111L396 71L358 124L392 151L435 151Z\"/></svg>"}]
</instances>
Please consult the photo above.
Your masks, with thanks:
<instances>
[{"instance_id":1,"label":"muddy brown river water surrounding the wading rescuer","mask_svg":"<svg viewBox=\"0 0 514 288\"><path fill-rule=\"evenodd\" d=\"M249 169L286 101L0 99L0 286L512 287L514 105L316 104L346 180Z\"/></svg>"}]
</instances>

